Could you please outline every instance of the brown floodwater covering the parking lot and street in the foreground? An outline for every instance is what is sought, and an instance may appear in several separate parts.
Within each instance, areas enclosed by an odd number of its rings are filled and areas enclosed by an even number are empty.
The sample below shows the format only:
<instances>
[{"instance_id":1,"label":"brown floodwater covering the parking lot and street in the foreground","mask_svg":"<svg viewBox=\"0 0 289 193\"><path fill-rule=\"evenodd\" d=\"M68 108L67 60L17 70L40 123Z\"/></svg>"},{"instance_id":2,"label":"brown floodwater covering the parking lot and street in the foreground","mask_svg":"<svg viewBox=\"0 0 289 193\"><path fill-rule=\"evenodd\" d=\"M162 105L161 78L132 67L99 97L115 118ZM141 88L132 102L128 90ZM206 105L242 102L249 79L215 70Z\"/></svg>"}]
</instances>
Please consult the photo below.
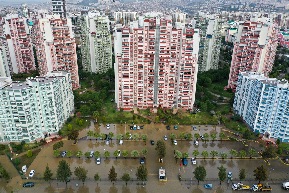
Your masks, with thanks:
<instances>
[{"instance_id":1,"label":"brown floodwater covering the parking lot and street in the foreground","mask_svg":"<svg viewBox=\"0 0 289 193\"><path fill-rule=\"evenodd\" d=\"M89 128L88 128L89 129ZM192 164L190 159L188 159L188 165L187 166L181 166L180 167L180 161L181 160L175 160L173 157L174 150L179 150L181 152L188 152L189 157L192 156L192 151L197 149L201 153L206 150L210 153L211 150L216 150L219 152L218 157L220 157L220 152L223 151L227 154L229 154L229 150L234 149L237 152L240 150L245 150L246 152L253 148L256 151L260 151L258 147L258 143L256 142L247 142L248 146L244 146L244 144L240 141L199 141L199 145L194 145L194 141L188 141L188 140L181 140L180 138L177 141L177 145L173 146L171 143L171 140L169 139L169 136L171 133L175 133L177 136L179 133L184 131L184 133L200 133L201 135L204 133L216 133L217 139L219 139L218 134L220 132L223 132L222 128L220 127L202 127L199 130L199 127L197 126L197 131L192 130L191 127L184 127L184 126L178 126L178 129L173 129L173 126L171 127L171 130L167 130L164 125L145 125L144 129L140 130L130 130L128 124L125 126L113 126L113 124L110 125L110 129L106 129L106 126L98 126L94 125L90 128L93 132L99 132L99 133L109 133L113 132L114 135L116 134L125 134L126 132L131 133L132 135L134 133L138 133L139 135L145 133L148 135L147 138L147 144L145 145L144 141L134 141L134 140L124 140L123 145L119 145L119 141L115 140L115 137L113 140L110 140L110 145L105 145L105 140L96 140L92 137L92 140L86 138L82 139L82 137L86 136L86 130L82 131L79 134L79 137L81 137L81 140L77 142L76 145L72 145L73 141L67 141L63 140L64 146L60 148L60 152L63 150L72 150L74 153L77 150L81 150L83 153L86 151L99 151L101 152L101 164L96 164L96 158L85 158L84 156L81 156L81 158L77 158L72 156L61 158L55 158L53 157L53 150L52 146L44 146L42 150L39 152L36 159L33 161L33 163L30 165L29 168L27 168L27 172L30 172L30 170L35 170L36 173L34 177L43 177L43 172L45 170L45 166L48 163L49 168L52 169L54 167L57 167L60 160L64 159L66 160L71 167L71 171L74 171L74 168L78 165L84 166L86 169L88 169L88 178L91 180L87 181L82 185L81 182L75 180L73 181L74 175L71 177L71 181L67 183L67 186L65 183L58 182L56 183L56 180L51 180L51 185L49 183L43 181L43 180L22 180L20 175L12 175L12 180L8 180L9 183L7 183L6 180L0 179L0 191L1 192L10 192L11 190L14 190L15 192L233 192L231 188L231 184L228 185L228 183L222 182L220 185L220 181L216 181L218 178L218 169L217 167L223 166L227 168L227 172L232 172L232 178L238 179L239 169L242 168L242 166L246 169L247 179L254 178L253 176L253 170L260 164L264 164L264 166L268 167L268 170L271 168L272 170L270 178L284 178L286 177L286 172L288 172L289 167L288 165L284 165L279 160L269 160L271 163L270 166L268 166L263 159L258 159L260 157L259 154L257 154L257 159L197 159L197 164ZM227 133L226 133L227 134ZM155 144L157 140L160 140L161 138L164 139L164 135L168 137L168 140L165 141L167 153L166 156L163 159L163 163L159 162L158 155L155 148L155 145L150 144L150 140L153 139L155 141ZM125 139L125 137L124 137ZM141 150L142 148L148 149L147 153L147 159L145 160L145 164L147 165L148 171L149 171L149 178L147 181L147 184L144 186L144 188L141 188L140 185L137 185L138 181L136 181L136 168L140 165L140 157L143 157ZM103 157L103 152L109 151L110 157L108 159L105 159ZM128 150L129 156L127 159L124 159L123 156L113 157L113 152L115 150ZM140 156L137 159L130 159L131 155L130 152L132 150L138 150L140 152ZM4 155L3 155L4 156ZM5 161L5 158L1 156L0 162ZM229 158L231 157L228 155ZM6 156L7 157L7 156ZM211 155L209 155L211 157ZM239 157L239 156L237 156ZM249 155L247 155L249 157ZM7 158L8 159L8 158ZM6 160L7 161L7 160ZM8 160L9 161L9 160ZM21 164L21 163L20 163ZM207 170L207 178L210 180L205 180L205 182L200 182L199 185L197 185L196 181L192 181L192 186L190 189L186 188L190 186L190 179L192 176L192 170L196 165L202 164L205 166ZM12 165L12 164L11 164ZM111 168L111 166L114 166L116 169L116 172L118 172L118 181L112 185L110 181L105 181L105 178L107 180L108 173ZM12 165L11 170L15 170L14 166ZM160 182L158 177L158 169L159 168L166 168L167 169L167 181ZM125 185L125 182L120 181L120 177L124 172L127 172L131 174L132 169L132 177L134 179L133 185L131 185L131 181L128 182L127 186ZM184 181L178 180L178 172L180 169L180 173ZM8 169L9 172L9 169ZM53 177L55 177L54 170ZM98 186L96 182L93 180L93 176L96 172L99 172L99 175L101 177L101 181L98 182ZM10 174L13 172L9 172ZM14 172L15 173L15 172ZM17 174L17 172L16 172ZM212 178L215 179L212 181ZM194 177L193 177L194 179ZM18 183L17 183L18 181ZM32 181L35 183L34 187L27 187L23 188L21 183L25 183L28 181ZM140 182L140 181L139 181ZM237 180L236 183L239 181ZM258 182L258 181L257 181ZM255 180L252 181L242 181L244 184L253 185L257 183ZM280 185L283 181L280 181L280 184L276 185L270 185L273 190L272 192L285 192L286 190L283 190L280 188ZM75 184L79 183L79 187L75 187ZM206 183L212 183L213 188L212 189L205 189L203 186ZM262 182L266 183L266 182ZM270 183L270 181L269 181ZM249 191L242 191L242 192L249 192Z\"/></svg>"}]
</instances>

